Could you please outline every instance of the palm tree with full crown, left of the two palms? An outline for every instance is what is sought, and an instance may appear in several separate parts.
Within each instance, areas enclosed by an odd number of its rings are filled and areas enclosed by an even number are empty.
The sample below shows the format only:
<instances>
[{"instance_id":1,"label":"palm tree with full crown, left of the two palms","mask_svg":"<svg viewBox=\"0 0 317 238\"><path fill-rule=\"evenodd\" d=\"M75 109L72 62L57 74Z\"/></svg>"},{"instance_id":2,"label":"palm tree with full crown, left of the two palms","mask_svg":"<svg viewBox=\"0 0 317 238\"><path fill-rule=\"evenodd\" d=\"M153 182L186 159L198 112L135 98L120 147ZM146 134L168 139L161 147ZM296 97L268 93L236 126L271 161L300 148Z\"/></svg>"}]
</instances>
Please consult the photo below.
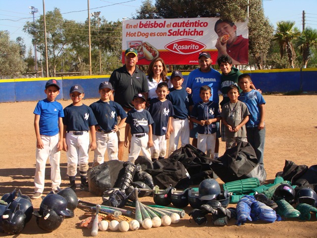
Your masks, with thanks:
<instances>
[{"instance_id":1,"label":"palm tree with full crown, left of the two palms","mask_svg":"<svg viewBox=\"0 0 317 238\"><path fill-rule=\"evenodd\" d=\"M294 28L295 21L280 21L277 23L276 33L273 40L277 41L280 47L281 58L284 53L287 53L288 61L292 68L294 68L294 59L296 53L293 46L293 41L300 36L300 31Z\"/></svg>"}]
</instances>

